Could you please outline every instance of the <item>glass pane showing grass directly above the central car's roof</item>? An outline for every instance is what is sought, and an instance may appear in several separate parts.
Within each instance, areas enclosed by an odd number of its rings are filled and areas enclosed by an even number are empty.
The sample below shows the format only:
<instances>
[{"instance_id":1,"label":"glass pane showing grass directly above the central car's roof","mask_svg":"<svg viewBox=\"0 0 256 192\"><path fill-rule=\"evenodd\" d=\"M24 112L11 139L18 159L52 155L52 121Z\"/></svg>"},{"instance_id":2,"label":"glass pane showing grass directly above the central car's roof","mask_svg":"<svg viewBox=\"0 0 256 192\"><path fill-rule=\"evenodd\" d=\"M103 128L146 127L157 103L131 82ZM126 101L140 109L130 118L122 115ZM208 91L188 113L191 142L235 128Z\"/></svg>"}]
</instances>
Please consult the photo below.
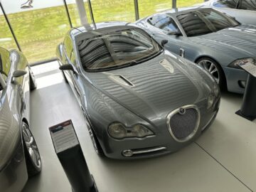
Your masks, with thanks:
<instances>
[{"instance_id":1,"label":"glass pane showing grass directly above the central car's roof","mask_svg":"<svg viewBox=\"0 0 256 192\"><path fill-rule=\"evenodd\" d=\"M91 2L95 23L135 21L134 0L92 0Z\"/></svg>"}]
</instances>

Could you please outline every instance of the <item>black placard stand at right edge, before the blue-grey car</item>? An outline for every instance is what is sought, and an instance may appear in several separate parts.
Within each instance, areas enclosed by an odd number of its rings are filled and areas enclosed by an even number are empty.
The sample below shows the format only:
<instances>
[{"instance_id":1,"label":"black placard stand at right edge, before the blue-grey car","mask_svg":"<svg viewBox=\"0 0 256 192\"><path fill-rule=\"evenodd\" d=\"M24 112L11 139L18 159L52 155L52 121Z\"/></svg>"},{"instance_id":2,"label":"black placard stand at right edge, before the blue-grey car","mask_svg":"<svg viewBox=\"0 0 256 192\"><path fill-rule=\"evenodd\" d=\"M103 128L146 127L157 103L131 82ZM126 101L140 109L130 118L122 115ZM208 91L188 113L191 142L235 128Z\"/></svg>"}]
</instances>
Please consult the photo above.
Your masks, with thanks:
<instances>
[{"instance_id":1,"label":"black placard stand at right edge, before the blue-grey car","mask_svg":"<svg viewBox=\"0 0 256 192\"><path fill-rule=\"evenodd\" d=\"M249 73L245 94L242 99L242 107L235 114L250 121L256 119L256 65L255 63L241 63L240 67Z\"/></svg>"}]
</instances>

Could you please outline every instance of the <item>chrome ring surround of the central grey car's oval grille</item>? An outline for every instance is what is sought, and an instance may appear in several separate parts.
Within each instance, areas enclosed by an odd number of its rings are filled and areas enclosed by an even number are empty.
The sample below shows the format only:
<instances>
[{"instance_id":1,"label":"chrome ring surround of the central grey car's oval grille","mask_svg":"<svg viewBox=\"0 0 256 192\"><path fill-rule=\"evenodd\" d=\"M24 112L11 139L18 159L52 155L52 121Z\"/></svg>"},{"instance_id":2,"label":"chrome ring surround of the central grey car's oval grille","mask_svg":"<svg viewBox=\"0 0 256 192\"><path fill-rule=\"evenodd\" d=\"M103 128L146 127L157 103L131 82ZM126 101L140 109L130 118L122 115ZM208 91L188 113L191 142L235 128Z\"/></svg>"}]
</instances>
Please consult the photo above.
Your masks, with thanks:
<instances>
[{"instance_id":1,"label":"chrome ring surround of the central grey car's oval grille","mask_svg":"<svg viewBox=\"0 0 256 192\"><path fill-rule=\"evenodd\" d=\"M186 110L186 109L194 109L194 110L196 110L196 112L198 114L198 117L197 117L197 120L196 120L196 127L195 127L195 129L193 130L193 132L191 132L191 134L188 135L188 137L186 137L184 139L178 139L177 137L175 137L174 133L171 130L171 125L170 125L171 117L173 117L174 114L179 113L181 108L184 109L184 110ZM194 135L198 131L200 120L201 120L201 114L200 114L200 111L198 110L198 107L196 105L185 105L185 106L182 106L182 107L178 107L176 110L173 110L172 112L170 112L167 115L167 117L166 117L166 124L167 124L168 130L169 130L169 133L171 134L171 137L173 137L176 142L182 143L182 142L188 142L188 140L190 140L190 139L192 139L194 137Z\"/></svg>"}]
</instances>

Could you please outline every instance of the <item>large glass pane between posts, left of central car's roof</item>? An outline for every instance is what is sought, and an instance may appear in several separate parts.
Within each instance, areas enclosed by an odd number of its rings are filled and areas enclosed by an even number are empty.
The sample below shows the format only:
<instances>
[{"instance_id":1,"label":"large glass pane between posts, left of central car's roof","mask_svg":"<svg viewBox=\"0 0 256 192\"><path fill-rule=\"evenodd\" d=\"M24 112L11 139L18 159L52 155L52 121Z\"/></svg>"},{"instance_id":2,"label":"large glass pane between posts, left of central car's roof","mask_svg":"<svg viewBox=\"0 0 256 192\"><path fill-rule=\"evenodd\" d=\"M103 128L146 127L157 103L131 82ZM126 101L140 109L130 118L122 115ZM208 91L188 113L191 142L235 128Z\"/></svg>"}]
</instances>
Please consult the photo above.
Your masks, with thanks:
<instances>
[{"instance_id":1,"label":"large glass pane between posts, left of central car's roof","mask_svg":"<svg viewBox=\"0 0 256 192\"><path fill-rule=\"evenodd\" d=\"M1 3L28 62L55 58L56 46L70 28L63 1L33 1L23 9L20 0Z\"/></svg>"}]
</instances>

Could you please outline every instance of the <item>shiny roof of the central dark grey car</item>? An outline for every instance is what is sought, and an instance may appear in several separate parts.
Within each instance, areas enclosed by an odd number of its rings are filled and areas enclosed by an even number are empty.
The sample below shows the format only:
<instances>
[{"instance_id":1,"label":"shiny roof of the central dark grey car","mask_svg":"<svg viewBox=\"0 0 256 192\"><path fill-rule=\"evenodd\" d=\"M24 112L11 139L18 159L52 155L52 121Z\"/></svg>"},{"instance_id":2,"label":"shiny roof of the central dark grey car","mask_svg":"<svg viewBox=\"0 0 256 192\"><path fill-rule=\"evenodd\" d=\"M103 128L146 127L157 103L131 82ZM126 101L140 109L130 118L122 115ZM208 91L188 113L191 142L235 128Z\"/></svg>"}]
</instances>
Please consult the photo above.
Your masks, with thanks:
<instances>
[{"instance_id":1,"label":"shiny roof of the central dark grey car","mask_svg":"<svg viewBox=\"0 0 256 192\"><path fill-rule=\"evenodd\" d=\"M96 28L95 28L95 26L96 26ZM90 33L91 36L93 36L93 33L94 33L95 34L94 36L96 36L97 32L109 33L112 31L119 31L122 29L137 28L136 25L134 25L132 23L127 23L124 21L107 21L107 22L102 22L102 23L95 23L95 26L91 24L90 27L92 29L90 31L87 30L87 28L85 26L75 27L75 28L70 29L70 31L68 31L68 33L73 38L76 38L77 36L82 36L82 34L86 34L86 33Z\"/></svg>"}]
</instances>

